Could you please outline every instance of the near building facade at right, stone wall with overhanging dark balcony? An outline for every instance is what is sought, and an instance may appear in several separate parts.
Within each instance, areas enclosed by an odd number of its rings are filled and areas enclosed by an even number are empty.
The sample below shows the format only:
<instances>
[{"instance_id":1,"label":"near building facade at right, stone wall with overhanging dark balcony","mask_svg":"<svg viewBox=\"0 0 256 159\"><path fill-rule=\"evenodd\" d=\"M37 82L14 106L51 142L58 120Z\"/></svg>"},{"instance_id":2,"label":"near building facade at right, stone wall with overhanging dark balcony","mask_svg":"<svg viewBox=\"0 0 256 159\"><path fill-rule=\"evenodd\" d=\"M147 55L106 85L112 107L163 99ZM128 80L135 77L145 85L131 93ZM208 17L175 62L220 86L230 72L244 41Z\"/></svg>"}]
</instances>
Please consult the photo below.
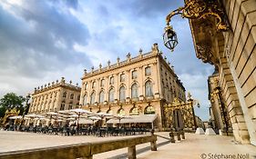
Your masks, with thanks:
<instances>
[{"instance_id":1,"label":"near building facade at right, stone wall with overhanging dark balcony","mask_svg":"<svg viewBox=\"0 0 256 159\"><path fill-rule=\"evenodd\" d=\"M196 54L219 71L220 94L235 139L256 145L256 1L215 3L220 16L189 20ZM218 31L218 22L225 23L228 30Z\"/></svg>"}]
</instances>

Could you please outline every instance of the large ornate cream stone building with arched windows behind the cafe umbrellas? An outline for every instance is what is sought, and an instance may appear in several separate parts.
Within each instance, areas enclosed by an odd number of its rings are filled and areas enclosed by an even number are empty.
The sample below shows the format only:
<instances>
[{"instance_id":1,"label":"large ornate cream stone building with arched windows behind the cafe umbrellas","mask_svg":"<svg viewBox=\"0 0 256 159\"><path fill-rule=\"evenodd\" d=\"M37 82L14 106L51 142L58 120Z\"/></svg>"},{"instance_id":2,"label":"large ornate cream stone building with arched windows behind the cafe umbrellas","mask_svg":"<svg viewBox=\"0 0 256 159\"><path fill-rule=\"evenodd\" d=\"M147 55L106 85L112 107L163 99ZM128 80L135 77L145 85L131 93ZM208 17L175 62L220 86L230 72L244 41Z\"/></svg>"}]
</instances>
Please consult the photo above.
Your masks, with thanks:
<instances>
[{"instance_id":1,"label":"large ornate cream stone building with arched windows behind the cafe umbrellas","mask_svg":"<svg viewBox=\"0 0 256 159\"><path fill-rule=\"evenodd\" d=\"M174 97L185 101L185 88L155 44L147 54L139 50L136 57L128 54L125 61L118 58L116 64L108 61L107 67L85 70L80 104L95 113L157 114L154 124L161 129L162 106Z\"/></svg>"}]
</instances>

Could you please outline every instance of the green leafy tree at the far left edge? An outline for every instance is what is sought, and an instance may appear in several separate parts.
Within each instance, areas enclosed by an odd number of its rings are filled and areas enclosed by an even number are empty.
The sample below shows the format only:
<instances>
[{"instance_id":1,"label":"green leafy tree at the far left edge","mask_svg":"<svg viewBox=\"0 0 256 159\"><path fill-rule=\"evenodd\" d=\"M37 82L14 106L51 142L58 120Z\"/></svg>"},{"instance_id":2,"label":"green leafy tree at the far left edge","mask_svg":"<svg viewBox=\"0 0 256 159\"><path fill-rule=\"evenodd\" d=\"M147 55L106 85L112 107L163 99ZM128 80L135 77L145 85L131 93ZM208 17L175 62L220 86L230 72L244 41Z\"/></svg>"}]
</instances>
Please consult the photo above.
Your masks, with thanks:
<instances>
[{"instance_id":1,"label":"green leafy tree at the far left edge","mask_svg":"<svg viewBox=\"0 0 256 159\"><path fill-rule=\"evenodd\" d=\"M19 95L17 96L14 93L5 94L3 98L0 99L0 116L3 117L5 115L6 110L10 110L16 108L20 110L20 114L24 111L24 102L26 98Z\"/></svg>"}]
</instances>

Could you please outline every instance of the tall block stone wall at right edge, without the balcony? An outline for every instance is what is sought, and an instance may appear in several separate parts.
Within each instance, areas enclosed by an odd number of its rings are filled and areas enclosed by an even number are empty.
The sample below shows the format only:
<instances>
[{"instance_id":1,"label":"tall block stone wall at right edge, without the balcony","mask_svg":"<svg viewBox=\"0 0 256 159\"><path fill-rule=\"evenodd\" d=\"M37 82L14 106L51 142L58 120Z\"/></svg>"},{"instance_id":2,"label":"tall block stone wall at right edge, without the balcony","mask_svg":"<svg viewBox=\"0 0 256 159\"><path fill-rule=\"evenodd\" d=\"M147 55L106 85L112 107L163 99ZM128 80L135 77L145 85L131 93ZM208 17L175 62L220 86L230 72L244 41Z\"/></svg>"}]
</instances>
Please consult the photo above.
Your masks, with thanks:
<instances>
[{"instance_id":1,"label":"tall block stone wall at right edge, without the balcony","mask_svg":"<svg viewBox=\"0 0 256 159\"><path fill-rule=\"evenodd\" d=\"M220 58L222 88L233 129L238 130L235 136L242 143L249 139L256 145L256 1L222 2L230 22Z\"/></svg>"}]
</instances>

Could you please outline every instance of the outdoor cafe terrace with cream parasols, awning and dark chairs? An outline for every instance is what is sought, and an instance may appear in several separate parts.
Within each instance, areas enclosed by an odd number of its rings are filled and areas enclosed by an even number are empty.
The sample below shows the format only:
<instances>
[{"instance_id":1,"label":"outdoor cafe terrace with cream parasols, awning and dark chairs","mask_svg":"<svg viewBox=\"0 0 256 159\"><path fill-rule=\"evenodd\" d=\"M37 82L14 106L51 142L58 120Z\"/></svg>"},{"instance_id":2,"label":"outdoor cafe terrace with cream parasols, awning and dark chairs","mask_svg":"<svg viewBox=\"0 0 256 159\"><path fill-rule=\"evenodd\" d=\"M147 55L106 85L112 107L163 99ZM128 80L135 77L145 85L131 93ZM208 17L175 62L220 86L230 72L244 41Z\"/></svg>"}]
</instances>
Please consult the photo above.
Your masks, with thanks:
<instances>
[{"instance_id":1,"label":"outdoor cafe terrace with cream parasols, awning and dark chairs","mask_svg":"<svg viewBox=\"0 0 256 159\"><path fill-rule=\"evenodd\" d=\"M77 112L76 112L77 111ZM74 114L76 113L76 114ZM85 115L86 114L86 115ZM107 117L108 116L108 117ZM135 116L137 122L152 124L157 115ZM22 131L37 134L52 135L94 135L94 136L118 136L136 135L150 132L151 127L143 124L134 124L133 117L120 117L109 114L92 114L83 109L70 110L69 114L30 114L26 124L11 124L8 131ZM148 117L148 119L147 119ZM15 118L15 117L14 117ZM103 124L104 120L104 125ZM44 123L45 124L42 124ZM28 124L27 124L28 123ZM39 123L39 124L38 124Z\"/></svg>"}]
</instances>

